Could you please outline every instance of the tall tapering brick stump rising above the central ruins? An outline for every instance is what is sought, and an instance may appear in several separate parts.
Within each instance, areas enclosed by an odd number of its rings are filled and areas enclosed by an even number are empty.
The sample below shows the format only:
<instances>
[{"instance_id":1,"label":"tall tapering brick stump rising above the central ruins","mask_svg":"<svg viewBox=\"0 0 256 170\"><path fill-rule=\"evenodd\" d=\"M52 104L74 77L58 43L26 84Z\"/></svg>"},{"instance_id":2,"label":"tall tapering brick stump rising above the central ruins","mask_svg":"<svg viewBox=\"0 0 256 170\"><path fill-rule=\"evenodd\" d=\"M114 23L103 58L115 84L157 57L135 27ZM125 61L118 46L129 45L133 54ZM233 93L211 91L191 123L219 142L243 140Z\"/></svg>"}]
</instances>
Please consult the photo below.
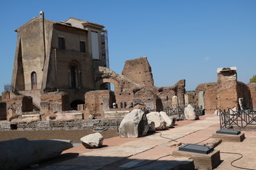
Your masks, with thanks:
<instances>
[{"instance_id":1,"label":"tall tapering brick stump rising above the central ruins","mask_svg":"<svg viewBox=\"0 0 256 170\"><path fill-rule=\"evenodd\" d=\"M151 67L146 57L140 57L135 60L127 60L124 65L122 75L138 84L154 86Z\"/></svg>"}]
</instances>

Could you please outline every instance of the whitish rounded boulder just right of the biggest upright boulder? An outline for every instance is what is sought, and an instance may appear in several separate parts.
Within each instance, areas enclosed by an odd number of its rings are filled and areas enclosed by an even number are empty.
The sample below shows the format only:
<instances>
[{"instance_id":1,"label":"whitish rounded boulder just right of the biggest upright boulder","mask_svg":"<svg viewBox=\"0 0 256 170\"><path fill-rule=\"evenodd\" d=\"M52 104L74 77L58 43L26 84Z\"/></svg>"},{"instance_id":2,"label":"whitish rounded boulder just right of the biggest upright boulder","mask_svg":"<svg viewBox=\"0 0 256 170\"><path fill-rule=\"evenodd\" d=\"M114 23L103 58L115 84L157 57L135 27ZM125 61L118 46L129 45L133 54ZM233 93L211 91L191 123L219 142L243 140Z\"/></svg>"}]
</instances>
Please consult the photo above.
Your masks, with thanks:
<instances>
[{"instance_id":1,"label":"whitish rounded boulder just right of the biggest upright boulder","mask_svg":"<svg viewBox=\"0 0 256 170\"><path fill-rule=\"evenodd\" d=\"M166 122L164 118L161 117L159 112L151 112L146 114L146 118L148 119L149 124L154 122L156 130L164 130L166 129Z\"/></svg>"}]
</instances>

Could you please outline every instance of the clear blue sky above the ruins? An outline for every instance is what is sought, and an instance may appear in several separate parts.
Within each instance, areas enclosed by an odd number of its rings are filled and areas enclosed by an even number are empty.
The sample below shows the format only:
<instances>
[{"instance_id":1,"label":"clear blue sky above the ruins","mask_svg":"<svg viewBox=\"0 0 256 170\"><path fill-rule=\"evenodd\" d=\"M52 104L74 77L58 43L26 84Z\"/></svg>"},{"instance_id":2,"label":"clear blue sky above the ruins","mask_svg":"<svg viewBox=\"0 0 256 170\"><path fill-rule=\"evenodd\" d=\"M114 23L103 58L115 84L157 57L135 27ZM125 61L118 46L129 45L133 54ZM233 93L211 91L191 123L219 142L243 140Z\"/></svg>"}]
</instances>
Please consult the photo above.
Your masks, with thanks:
<instances>
[{"instance_id":1,"label":"clear blue sky above the ruins","mask_svg":"<svg viewBox=\"0 0 256 170\"><path fill-rule=\"evenodd\" d=\"M155 86L186 79L186 90L217 81L217 68L238 67L238 80L256 74L255 0L1 1L0 91L11 84L16 32L44 11L45 18L80 18L105 26L110 69L148 57Z\"/></svg>"}]
</instances>

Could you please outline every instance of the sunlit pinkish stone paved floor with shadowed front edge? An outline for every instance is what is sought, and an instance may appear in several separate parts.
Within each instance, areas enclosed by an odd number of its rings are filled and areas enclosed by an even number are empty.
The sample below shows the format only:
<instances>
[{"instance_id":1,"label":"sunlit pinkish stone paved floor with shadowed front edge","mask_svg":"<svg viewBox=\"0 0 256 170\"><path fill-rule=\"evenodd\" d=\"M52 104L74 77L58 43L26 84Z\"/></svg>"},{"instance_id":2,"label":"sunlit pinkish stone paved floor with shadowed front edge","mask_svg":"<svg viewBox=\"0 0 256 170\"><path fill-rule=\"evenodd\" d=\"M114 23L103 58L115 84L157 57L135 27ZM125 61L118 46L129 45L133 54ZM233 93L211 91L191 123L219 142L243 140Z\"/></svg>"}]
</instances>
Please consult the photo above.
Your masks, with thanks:
<instances>
[{"instance_id":1,"label":"sunlit pinkish stone paved floor with shadowed front edge","mask_svg":"<svg viewBox=\"0 0 256 170\"><path fill-rule=\"evenodd\" d=\"M193 169L193 161L173 157L172 152L178 147L169 145L177 142L206 144L213 141L211 136L218 129L217 115L203 115L201 120L178 121L174 128L146 137L112 137L104 140L103 147L98 149L85 149L79 145L63 152L63 159L44 162L36 169ZM216 169L238 169L234 166L256 169L256 131L246 130L245 137L243 142L222 142L215 147L221 152L221 163ZM242 154L242 159L233 162L241 157L236 153Z\"/></svg>"}]
</instances>

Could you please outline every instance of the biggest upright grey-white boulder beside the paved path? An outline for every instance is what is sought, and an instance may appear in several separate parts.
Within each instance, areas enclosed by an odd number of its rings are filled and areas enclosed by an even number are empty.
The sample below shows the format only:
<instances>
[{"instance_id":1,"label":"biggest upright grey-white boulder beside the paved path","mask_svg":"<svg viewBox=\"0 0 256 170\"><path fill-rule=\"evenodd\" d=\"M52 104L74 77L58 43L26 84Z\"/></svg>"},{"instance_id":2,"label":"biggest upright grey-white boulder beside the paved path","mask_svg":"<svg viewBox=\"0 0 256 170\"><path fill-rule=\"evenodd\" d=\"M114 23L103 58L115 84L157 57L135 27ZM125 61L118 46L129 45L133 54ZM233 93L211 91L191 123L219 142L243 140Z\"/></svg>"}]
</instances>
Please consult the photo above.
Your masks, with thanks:
<instances>
[{"instance_id":1,"label":"biggest upright grey-white boulder beside the paved path","mask_svg":"<svg viewBox=\"0 0 256 170\"><path fill-rule=\"evenodd\" d=\"M128 113L119 126L119 137L142 137L149 131L146 114L140 109Z\"/></svg>"}]
</instances>

